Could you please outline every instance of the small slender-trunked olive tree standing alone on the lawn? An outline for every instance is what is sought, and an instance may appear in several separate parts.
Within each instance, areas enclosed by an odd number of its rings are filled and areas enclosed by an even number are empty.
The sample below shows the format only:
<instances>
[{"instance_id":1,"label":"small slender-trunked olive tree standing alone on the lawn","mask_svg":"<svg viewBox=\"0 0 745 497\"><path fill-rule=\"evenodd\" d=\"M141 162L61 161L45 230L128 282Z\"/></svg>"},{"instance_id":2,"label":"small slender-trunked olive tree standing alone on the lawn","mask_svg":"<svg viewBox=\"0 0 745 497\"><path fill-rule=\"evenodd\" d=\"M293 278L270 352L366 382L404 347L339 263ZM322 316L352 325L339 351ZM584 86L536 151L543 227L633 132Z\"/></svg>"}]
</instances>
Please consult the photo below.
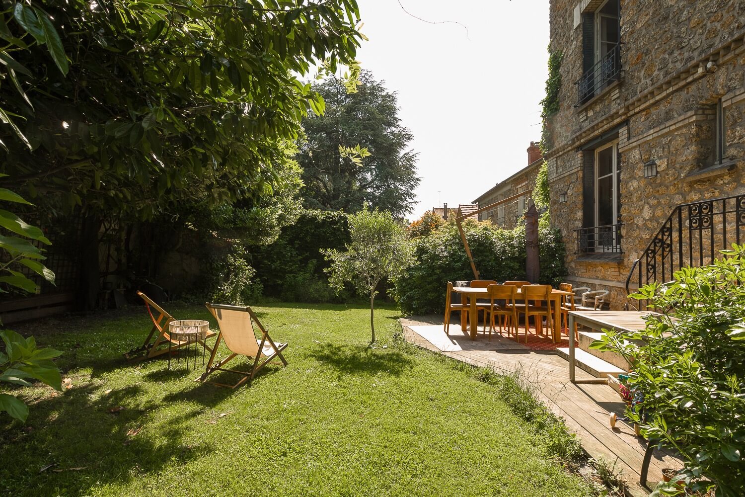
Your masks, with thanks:
<instances>
[{"instance_id":1,"label":"small slender-trunked olive tree standing alone on the lawn","mask_svg":"<svg viewBox=\"0 0 745 497\"><path fill-rule=\"evenodd\" d=\"M370 343L375 342L375 295L381 280L395 282L413 264L413 250L403 227L390 212L364 209L349 216L346 251L324 250L331 262L329 284L337 291L350 282L361 296L370 297Z\"/></svg>"}]
</instances>

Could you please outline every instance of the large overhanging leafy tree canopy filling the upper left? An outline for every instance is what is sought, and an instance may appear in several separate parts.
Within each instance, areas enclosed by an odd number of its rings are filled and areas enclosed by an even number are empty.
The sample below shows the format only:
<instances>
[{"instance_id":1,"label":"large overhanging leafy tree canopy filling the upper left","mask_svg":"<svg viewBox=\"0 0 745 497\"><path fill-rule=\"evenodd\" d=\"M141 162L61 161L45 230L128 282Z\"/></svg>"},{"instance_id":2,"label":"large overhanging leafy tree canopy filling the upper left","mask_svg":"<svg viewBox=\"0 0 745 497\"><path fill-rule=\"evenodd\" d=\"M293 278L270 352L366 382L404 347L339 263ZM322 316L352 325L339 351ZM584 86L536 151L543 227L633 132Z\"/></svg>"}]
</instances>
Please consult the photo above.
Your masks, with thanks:
<instances>
[{"instance_id":1,"label":"large overhanging leafy tree canopy filling the upper left","mask_svg":"<svg viewBox=\"0 0 745 497\"><path fill-rule=\"evenodd\" d=\"M271 194L353 64L355 0L1 0L0 169L37 203L151 218ZM61 200L61 202L60 202Z\"/></svg>"}]
</instances>

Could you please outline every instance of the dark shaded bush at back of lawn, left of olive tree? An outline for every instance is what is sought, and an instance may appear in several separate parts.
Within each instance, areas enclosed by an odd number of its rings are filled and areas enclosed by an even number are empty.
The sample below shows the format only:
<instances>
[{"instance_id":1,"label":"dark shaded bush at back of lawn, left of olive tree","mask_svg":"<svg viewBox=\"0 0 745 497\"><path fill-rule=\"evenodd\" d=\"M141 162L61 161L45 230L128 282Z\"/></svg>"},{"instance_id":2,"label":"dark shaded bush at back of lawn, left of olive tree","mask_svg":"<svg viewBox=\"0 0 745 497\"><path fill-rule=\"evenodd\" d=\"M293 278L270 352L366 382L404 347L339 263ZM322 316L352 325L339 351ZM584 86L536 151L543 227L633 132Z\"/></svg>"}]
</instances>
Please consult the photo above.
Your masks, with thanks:
<instances>
[{"instance_id":1,"label":"dark shaded bush at back of lawn, left of olive tree","mask_svg":"<svg viewBox=\"0 0 745 497\"><path fill-rule=\"evenodd\" d=\"M349 222L344 212L308 210L295 224L282 228L273 244L253 247L250 260L267 296L283 300L297 296L292 302L333 302L339 297L328 288L329 279L323 270L329 264L320 251L343 250L348 242Z\"/></svg>"}]
</instances>

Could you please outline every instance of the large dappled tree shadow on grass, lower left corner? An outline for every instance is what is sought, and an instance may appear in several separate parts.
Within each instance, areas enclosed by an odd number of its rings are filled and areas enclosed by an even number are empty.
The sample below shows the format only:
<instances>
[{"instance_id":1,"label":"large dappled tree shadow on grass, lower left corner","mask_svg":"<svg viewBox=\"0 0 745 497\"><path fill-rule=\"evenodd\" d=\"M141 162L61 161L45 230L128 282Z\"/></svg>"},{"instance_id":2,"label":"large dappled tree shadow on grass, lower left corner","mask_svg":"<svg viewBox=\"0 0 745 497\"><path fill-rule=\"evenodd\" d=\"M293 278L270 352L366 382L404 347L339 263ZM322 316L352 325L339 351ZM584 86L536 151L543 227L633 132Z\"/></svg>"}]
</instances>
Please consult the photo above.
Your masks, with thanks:
<instances>
[{"instance_id":1,"label":"large dappled tree shadow on grass, lower left corner","mask_svg":"<svg viewBox=\"0 0 745 497\"><path fill-rule=\"evenodd\" d=\"M128 484L209 454L199 440L188 440L194 409L162 425L153 421L162 403L147 397L138 384L109 393L95 384L54 396L50 390L32 403L25 425L0 423L0 452L7 456L0 493L56 495L66 488L87 495L93 487Z\"/></svg>"}]
</instances>

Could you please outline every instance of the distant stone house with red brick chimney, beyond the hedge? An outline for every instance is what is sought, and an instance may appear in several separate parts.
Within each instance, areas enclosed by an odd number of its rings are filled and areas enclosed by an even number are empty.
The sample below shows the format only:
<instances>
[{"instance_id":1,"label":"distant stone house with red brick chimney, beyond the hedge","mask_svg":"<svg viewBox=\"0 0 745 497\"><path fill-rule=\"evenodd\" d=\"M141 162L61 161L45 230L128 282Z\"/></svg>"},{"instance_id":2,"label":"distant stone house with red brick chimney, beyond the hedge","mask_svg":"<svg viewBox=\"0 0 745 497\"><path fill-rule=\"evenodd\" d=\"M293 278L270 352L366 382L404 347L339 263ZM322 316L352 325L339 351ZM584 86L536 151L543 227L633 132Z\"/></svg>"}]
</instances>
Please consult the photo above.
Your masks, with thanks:
<instances>
[{"instance_id":1,"label":"distant stone house with red brick chimney, beyond the hedge","mask_svg":"<svg viewBox=\"0 0 745 497\"><path fill-rule=\"evenodd\" d=\"M478 197L473 203L478 204L480 208L486 207L498 202L498 200L504 200L505 198L519 194L521 191L532 190L536 184L536 176L542 163L543 157L541 155L541 149L538 147L538 142L530 142L530 147L527 148L527 166L501 183L492 186L491 189L481 194L481 197ZM512 229L522 221L522 216L527 210L528 198L529 195L526 194L512 202L503 203L494 209L481 212L478 215L479 221L486 221L488 219L498 226Z\"/></svg>"}]
</instances>

